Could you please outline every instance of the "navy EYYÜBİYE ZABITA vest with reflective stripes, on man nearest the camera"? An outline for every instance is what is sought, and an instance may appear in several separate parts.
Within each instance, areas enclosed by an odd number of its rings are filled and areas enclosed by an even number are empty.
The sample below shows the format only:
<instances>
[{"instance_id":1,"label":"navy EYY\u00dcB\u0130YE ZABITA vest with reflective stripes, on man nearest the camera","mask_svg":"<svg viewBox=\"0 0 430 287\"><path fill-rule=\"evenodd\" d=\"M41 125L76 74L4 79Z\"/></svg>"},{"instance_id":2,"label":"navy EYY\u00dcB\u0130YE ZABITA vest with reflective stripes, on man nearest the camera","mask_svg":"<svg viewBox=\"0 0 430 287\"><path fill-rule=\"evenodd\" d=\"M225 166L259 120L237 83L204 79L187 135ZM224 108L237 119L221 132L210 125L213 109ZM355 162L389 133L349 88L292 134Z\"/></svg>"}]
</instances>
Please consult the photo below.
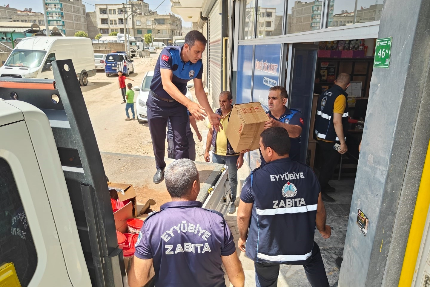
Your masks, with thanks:
<instances>
[{"instance_id":1,"label":"navy EYY\u00dcB\u0130YE ZABITA vest with reflective stripes, on man nearest the camera","mask_svg":"<svg viewBox=\"0 0 430 287\"><path fill-rule=\"evenodd\" d=\"M251 180L254 205L246 256L267 264L296 264L312 255L318 179L313 170L290 158L255 169Z\"/></svg>"}]
</instances>

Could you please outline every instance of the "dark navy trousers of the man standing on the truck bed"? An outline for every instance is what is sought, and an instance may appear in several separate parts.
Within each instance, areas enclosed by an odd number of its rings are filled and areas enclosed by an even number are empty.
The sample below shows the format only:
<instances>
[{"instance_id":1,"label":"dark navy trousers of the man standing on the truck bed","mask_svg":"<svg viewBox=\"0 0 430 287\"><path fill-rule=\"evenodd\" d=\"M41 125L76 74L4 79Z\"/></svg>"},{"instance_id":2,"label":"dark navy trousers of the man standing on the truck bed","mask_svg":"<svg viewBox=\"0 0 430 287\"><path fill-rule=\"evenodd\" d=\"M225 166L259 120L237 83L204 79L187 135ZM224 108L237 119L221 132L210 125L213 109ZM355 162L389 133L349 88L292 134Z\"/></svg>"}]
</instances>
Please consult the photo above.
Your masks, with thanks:
<instances>
[{"instance_id":1,"label":"dark navy trousers of the man standing on the truck bed","mask_svg":"<svg viewBox=\"0 0 430 287\"><path fill-rule=\"evenodd\" d=\"M168 118L172 124L175 159L188 158L187 108L178 102L165 102L151 95L148 96L146 106L157 170L163 170L166 167L164 154Z\"/></svg>"}]
</instances>

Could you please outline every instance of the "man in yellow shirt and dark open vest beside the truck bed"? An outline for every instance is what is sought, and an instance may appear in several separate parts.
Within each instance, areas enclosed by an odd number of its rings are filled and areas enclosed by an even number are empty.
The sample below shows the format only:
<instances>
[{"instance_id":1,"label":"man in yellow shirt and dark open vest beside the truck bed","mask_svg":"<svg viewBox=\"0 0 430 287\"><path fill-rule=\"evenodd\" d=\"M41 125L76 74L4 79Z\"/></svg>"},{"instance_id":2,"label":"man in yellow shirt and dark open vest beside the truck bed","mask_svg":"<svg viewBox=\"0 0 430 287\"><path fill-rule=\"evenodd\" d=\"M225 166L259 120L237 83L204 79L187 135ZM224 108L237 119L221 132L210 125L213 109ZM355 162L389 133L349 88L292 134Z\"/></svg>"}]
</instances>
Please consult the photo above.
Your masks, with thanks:
<instances>
[{"instance_id":1,"label":"man in yellow shirt and dark open vest beside the truck bed","mask_svg":"<svg viewBox=\"0 0 430 287\"><path fill-rule=\"evenodd\" d=\"M215 111L215 114L223 116L221 125L224 127L219 132L217 130L210 130L206 140L205 160L209 162L209 149L212 149L212 162L216 164L225 164L228 167L228 178L230 181L230 194L231 204L228 208L228 213L233 214L236 211L234 201L236 201L237 191L237 169L243 165L243 153L237 153L233 150L228 142L225 131L227 130L228 120L230 119L231 110L233 109L233 95L229 91L221 92L219 95L220 108Z\"/></svg>"}]
</instances>

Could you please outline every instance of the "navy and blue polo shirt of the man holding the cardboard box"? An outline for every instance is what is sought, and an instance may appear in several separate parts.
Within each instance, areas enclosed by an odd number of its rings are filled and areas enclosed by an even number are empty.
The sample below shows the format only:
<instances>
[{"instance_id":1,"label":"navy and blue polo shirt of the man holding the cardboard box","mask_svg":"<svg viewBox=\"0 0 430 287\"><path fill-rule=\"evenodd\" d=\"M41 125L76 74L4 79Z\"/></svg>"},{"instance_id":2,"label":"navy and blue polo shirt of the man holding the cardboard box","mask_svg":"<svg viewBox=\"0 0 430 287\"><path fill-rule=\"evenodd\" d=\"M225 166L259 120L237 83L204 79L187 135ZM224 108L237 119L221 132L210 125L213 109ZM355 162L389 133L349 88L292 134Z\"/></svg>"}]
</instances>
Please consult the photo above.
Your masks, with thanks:
<instances>
[{"instance_id":1,"label":"navy and blue polo shirt of the man holding the cardboard box","mask_svg":"<svg viewBox=\"0 0 430 287\"><path fill-rule=\"evenodd\" d=\"M303 121L303 116L301 115L300 111L290 110L289 108L285 107L285 113L283 113L283 115L281 117L279 117L279 119L277 119L276 117L273 117L272 113L270 111L268 111L267 114L269 114L269 116L271 118L273 118L273 119L275 119L281 123L289 123L291 125L299 126L303 129L304 121ZM299 136L298 138L295 138L295 139L290 138L290 142L291 142L291 148L290 148L289 156L290 156L291 160L293 160L293 161L300 160L301 136ZM263 158L263 155L261 154L261 151L260 151L260 159L261 159L261 165L266 163L266 161Z\"/></svg>"}]
</instances>

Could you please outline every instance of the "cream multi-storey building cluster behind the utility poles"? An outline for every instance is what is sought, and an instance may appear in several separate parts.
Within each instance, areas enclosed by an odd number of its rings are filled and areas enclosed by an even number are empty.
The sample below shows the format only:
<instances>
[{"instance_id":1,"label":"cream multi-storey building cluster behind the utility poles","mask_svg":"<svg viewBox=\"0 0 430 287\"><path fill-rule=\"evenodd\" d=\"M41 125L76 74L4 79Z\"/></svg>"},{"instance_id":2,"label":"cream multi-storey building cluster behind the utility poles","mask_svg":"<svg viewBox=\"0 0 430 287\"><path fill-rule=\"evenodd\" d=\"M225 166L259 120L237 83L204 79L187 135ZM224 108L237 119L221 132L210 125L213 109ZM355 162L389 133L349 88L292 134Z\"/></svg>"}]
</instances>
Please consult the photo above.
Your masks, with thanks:
<instances>
[{"instance_id":1,"label":"cream multi-storey building cluster behind the utility poles","mask_svg":"<svg viewBox=\"0 0 430 287\"><path fill-rule=\"evenodd\" d=\"M130 11L133 11L131 13ZM171 15L151 12L149 4L143 1L129 1L124 15L123 4L96 4L95 15L98 33L103 36L111 32L124 34L124 16L126 30L130 36L142 37L154 30L154 42L172 43L173 36L182 35L181 19ZM128 25L128 28L127 28Z\"/></svg>"}]
</instances>

